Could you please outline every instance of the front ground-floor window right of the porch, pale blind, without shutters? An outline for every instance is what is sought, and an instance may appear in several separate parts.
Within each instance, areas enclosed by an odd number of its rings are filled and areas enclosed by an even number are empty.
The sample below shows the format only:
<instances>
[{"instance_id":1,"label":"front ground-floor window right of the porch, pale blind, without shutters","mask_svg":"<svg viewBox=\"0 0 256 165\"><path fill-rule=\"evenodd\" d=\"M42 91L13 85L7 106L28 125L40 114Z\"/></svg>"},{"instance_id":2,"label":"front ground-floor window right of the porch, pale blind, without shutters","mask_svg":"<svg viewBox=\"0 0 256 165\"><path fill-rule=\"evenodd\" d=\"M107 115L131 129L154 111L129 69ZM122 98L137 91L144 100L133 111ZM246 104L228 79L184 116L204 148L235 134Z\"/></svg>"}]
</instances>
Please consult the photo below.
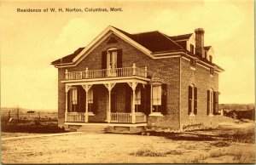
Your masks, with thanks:
<instances>
[{"instance_id":1,"label":"front ground-floor window right of the porch, pale blind, without shutters","mask_svg":"<svg viewBox=\"0 0 256 165\"><path fill-rule=\"evenodd\" d=\"M160 112L161 98L162 96L162 88L161 86L153 86L152 87L152 111Z\"/></svg>"}]
</instances>

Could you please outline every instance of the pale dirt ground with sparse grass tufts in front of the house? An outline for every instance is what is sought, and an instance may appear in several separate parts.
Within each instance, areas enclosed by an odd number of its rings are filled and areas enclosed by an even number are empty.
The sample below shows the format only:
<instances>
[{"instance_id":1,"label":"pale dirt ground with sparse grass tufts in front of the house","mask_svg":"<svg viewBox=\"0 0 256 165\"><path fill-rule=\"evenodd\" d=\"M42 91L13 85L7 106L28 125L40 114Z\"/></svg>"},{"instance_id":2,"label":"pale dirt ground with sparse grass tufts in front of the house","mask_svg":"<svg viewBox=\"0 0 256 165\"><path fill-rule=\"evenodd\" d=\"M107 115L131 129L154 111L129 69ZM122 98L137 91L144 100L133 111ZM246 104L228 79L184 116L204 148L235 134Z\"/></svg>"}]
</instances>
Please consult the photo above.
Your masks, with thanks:
<instances>
[{"instance_id":1,"label":"pale dirt ground with sparse grass tufts in front of the house","mask_svg":"<svg viewBox=\"0 0 256 165\"><path fill-rule=\"evenodd\" d=\"M252 124L249 124L252 127ZM246 126L247 127L247 126ZM2 138L14 135L2 134ZM67 134L2 140L3 163L253 163L254 144L135 134ZM143 155L150 151L149 155Z\"/></svg>"}]
</instances>

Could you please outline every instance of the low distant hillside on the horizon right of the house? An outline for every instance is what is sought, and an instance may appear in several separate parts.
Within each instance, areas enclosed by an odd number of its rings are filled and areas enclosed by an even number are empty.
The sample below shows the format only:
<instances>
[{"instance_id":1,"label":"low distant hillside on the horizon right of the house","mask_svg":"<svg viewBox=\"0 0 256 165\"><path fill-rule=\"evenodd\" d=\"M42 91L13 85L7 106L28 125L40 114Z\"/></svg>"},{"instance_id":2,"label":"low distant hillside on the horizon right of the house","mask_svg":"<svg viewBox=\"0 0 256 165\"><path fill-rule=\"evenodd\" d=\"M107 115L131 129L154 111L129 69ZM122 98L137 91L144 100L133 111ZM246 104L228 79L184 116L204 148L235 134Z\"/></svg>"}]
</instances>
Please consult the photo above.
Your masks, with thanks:
<instances>
[{"instance_id":1,"label":"low distant hillside on the horizon right of the house","mask_svg":"<svg viewBox=\"0 0 256 165\"><path fill-rule=\"evenodd\" d=\"M236 111L250 111L255 109L254 104L219 104L218 109L224 108L225 110L236 110Z\"/></svg>"}]
</instances>

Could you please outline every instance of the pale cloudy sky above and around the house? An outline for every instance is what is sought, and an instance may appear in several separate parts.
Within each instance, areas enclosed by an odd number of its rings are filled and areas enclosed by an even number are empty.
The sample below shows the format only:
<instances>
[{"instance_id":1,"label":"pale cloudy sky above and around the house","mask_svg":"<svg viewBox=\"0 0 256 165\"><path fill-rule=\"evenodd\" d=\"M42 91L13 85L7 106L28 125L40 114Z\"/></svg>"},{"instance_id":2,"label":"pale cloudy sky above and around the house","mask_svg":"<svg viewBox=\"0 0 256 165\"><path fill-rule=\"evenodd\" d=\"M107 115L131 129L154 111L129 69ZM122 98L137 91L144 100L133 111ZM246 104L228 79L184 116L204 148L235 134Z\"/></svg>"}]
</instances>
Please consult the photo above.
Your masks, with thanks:
<instances>
[{"instance_id":1,"label":"pale cloudy sky above and around the house","mask_svg":"<svg viewBox=\"0 0 256 165\"><path fill-rule=\"evenodd\" d=\"M1 1L1 107L57 110L57 69L50 62L85 47L109 25L129 33L169 36L205 30L214 49L219 103L254 103L253 0L243 1ZM121 8L68 13L44 9ZM20 13L17 9L41 9Z\"/></svg>"}]
</instances>

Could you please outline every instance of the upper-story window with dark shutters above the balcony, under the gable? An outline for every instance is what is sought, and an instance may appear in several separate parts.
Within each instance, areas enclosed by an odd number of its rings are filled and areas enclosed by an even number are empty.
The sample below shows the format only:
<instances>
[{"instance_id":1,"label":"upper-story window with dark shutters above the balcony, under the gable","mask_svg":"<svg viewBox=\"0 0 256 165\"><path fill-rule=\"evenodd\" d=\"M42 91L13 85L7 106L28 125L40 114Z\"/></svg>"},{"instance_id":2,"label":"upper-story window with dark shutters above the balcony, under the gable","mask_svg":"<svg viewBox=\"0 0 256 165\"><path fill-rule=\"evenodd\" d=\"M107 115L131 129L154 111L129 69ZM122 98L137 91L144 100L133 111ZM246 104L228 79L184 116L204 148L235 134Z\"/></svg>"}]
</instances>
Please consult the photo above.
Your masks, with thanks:
<instances>
[{"instance_id":1,"label":"upper-story window with dark shutters above the balcony, under the gable","mask_svg":"<svg viewBox=\"0 0 256 165\"><path fill-rule=\"evenodd\" d=\"M121 68L122 67L122 50L118 48L108 48L102 51L102 69Z\"/></svg>"}]
</instances>

